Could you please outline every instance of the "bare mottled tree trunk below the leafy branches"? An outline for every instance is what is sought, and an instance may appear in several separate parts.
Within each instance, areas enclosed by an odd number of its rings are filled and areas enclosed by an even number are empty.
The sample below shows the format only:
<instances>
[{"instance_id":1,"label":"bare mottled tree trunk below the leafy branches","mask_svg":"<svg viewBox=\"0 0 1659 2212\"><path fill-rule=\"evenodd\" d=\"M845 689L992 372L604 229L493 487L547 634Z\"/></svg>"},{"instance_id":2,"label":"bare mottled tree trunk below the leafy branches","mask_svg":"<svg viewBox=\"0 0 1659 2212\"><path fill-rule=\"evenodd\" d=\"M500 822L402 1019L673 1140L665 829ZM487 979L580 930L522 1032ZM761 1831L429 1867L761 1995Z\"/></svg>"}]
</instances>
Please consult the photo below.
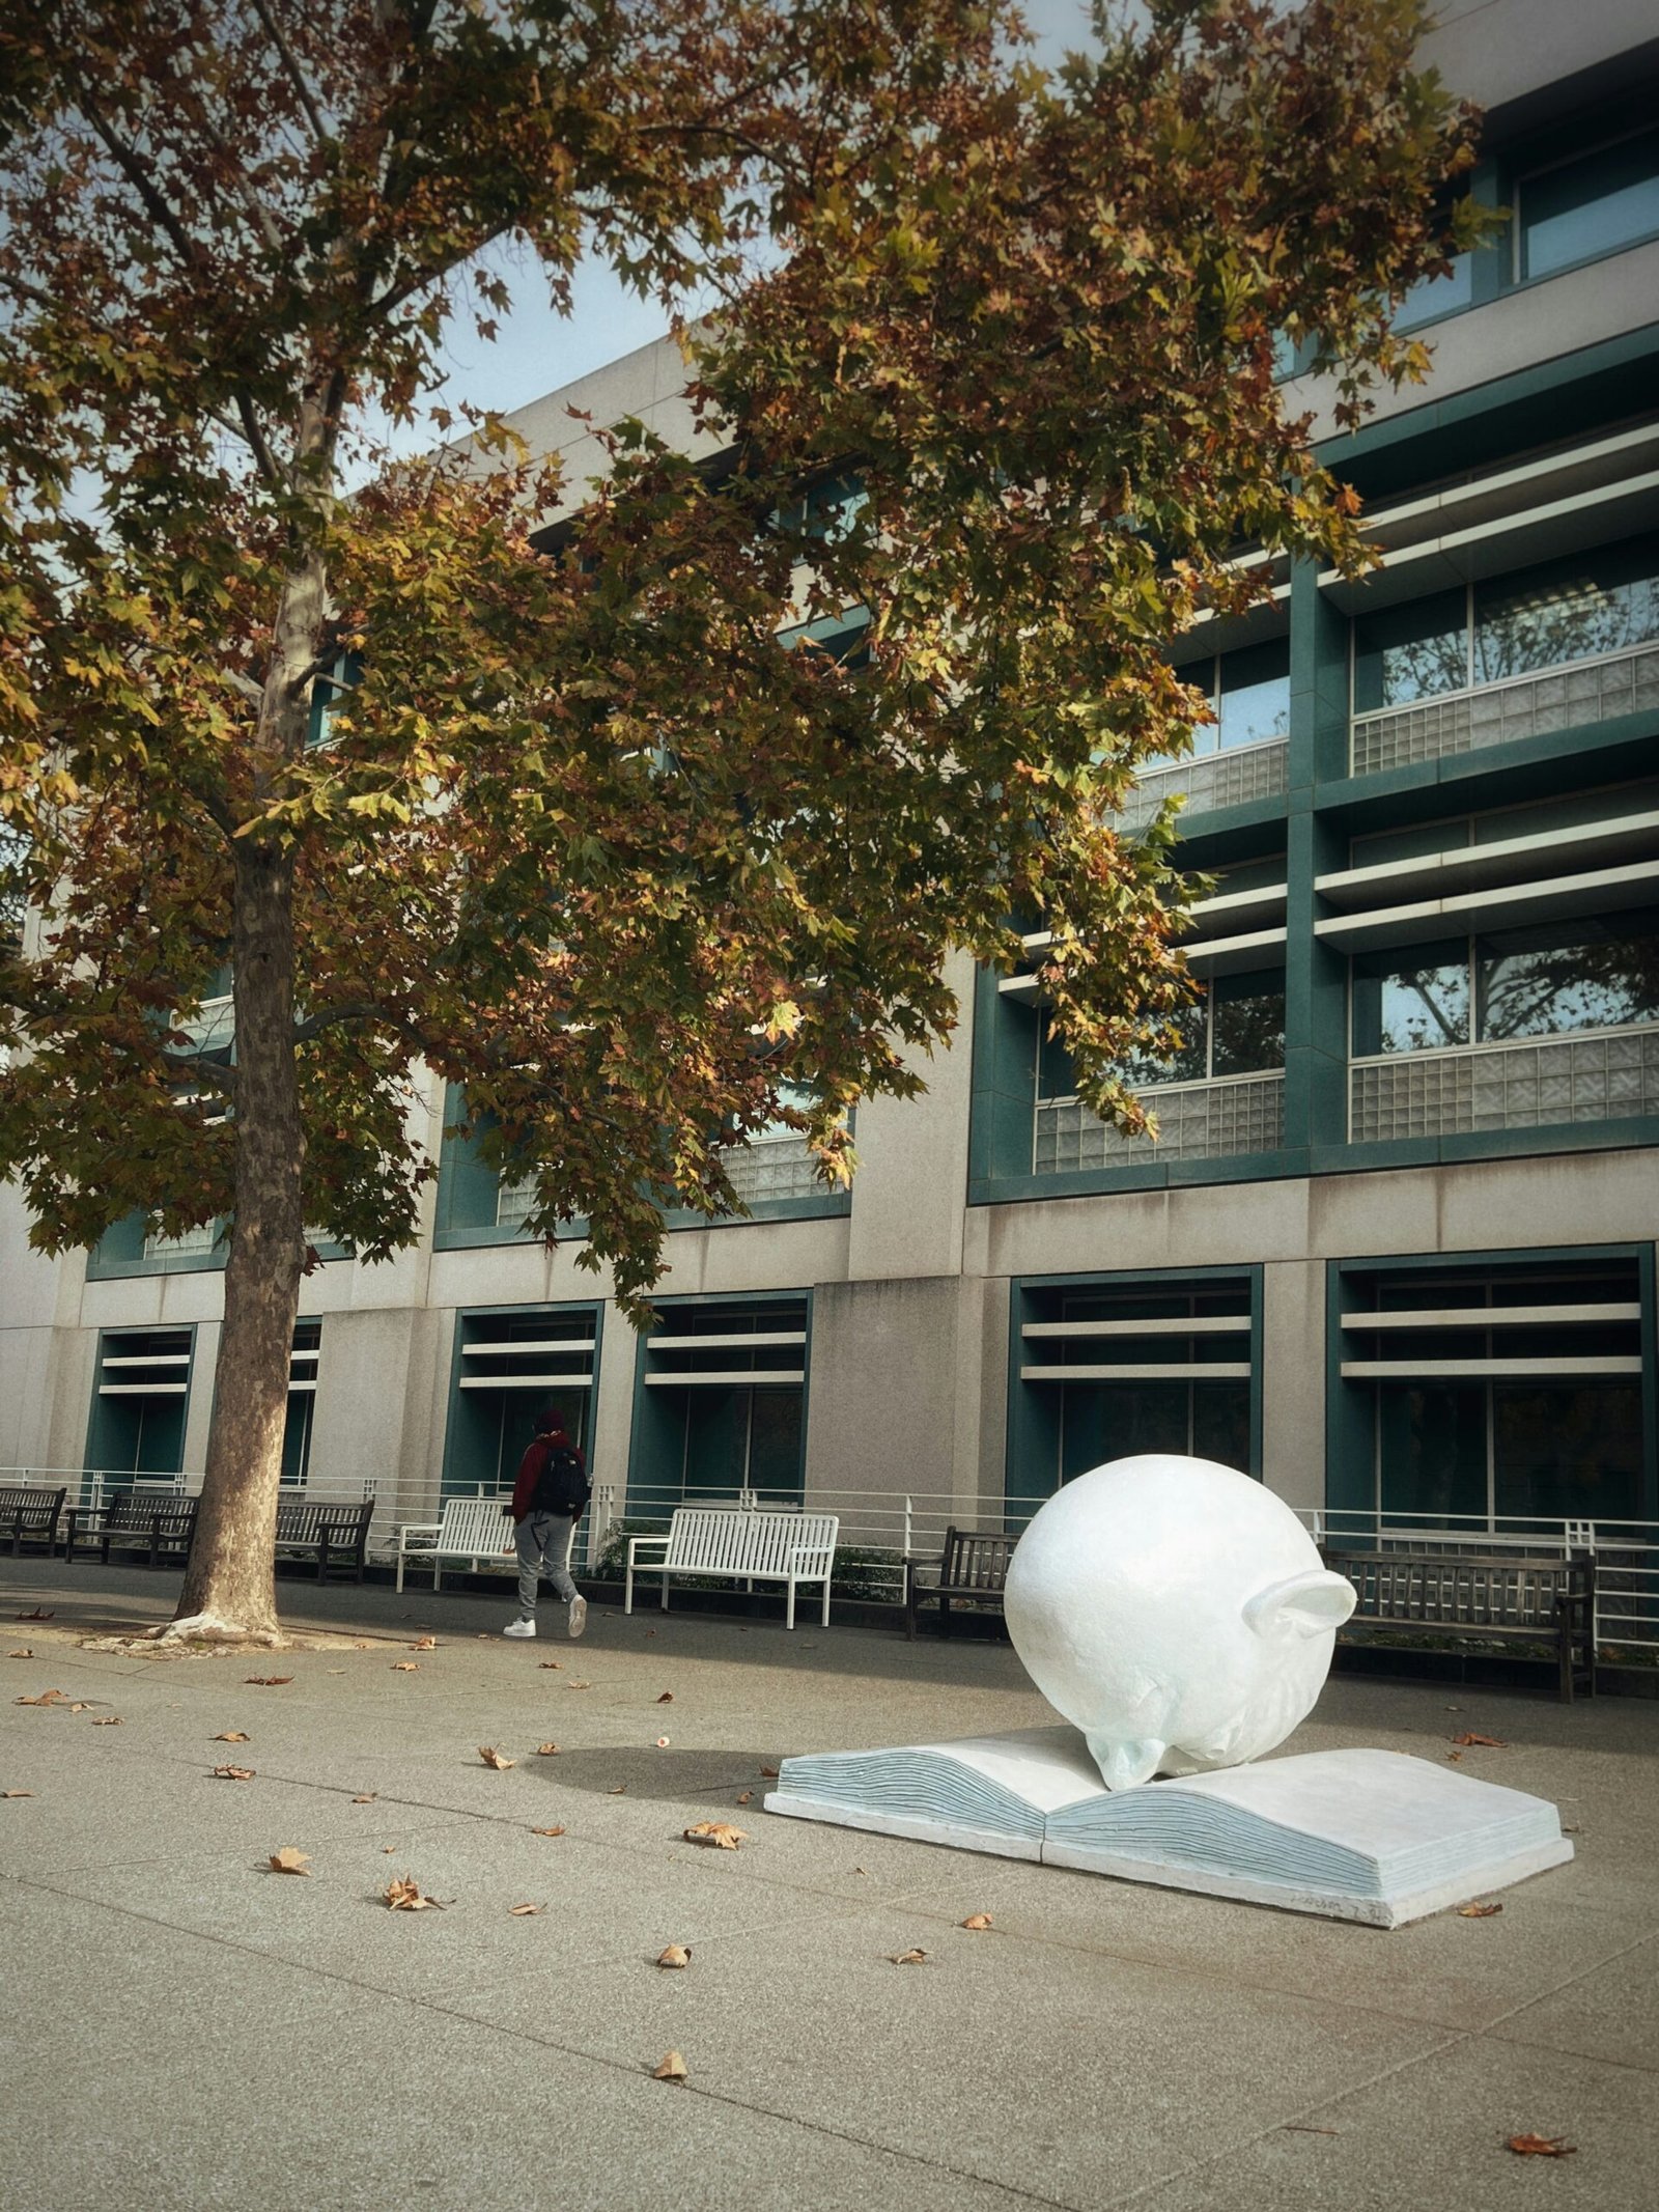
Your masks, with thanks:
<instances>
[{"instance_id":1,"label":"bare mottled tree trunk below the leafy branches","mask_svg":"<svg viewBox=\"0 0 1659 2212\"><path fill-rule=\"evenodd\" d=\"M305 1256L305 1137L294 1064L294 878L234 845L234 1181L208 1473L173 1637L279 1641L276 1493Z\"/></svg>"}]
</instances>

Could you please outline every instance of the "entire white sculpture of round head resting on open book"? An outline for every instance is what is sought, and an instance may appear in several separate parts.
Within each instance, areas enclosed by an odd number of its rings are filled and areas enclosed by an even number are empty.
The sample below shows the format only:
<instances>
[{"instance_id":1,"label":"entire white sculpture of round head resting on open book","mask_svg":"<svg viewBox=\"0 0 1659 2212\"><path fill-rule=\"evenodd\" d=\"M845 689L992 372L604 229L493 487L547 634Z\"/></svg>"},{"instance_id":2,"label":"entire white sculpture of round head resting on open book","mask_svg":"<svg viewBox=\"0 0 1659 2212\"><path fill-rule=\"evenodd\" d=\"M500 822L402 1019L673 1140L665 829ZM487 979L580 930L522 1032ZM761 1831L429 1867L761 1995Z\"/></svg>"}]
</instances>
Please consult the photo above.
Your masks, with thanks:
<instances>
[{"instance_id":1,"label":"entire white sculpture of round head resting on open book","mask_svg":"<svg viewBox=\"0 0 1659 2212\"><path fill-rule=\"evenodd\" d=\"M1422 1759L1265 1759L1312 1712L1354 1588L1230 1467L1079 1475L1020 1540L1004 1610L1071 1725L785 1759L768 1812L1374 1927L1573 1856L1544 1798Z\"/></svg>"}]
</instances>

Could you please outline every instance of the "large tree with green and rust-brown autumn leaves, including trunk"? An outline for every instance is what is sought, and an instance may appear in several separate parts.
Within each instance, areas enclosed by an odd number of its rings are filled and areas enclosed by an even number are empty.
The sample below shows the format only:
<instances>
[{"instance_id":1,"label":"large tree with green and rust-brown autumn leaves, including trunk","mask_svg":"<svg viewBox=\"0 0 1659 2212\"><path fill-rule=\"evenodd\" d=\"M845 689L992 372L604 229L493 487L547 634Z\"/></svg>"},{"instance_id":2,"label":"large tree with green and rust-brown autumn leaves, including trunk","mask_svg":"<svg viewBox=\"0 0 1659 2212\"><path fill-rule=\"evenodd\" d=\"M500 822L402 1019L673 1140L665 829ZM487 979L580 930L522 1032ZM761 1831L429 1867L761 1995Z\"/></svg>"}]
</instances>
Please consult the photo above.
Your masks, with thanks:
<instances>
[{"instance_id":1,"label":"large tree with green and rust-brown autumn leaves, including trunk","mask_svg":"<svg viewBox=\"0 0 1659 2212\"><path fill-rule=\"evenodd\" d=\"M1203 714L1170 639L1243 542L1363 557L1276 347L1349 409L1420 372L1471 128L1418 0L1148 18L1042 80L969 0L13 0L0 1170L46 1252L226 1225L179 1632L276 1632L307 1223L418 1232L418 1071L633 1307L765 1121L849 1172L951 949L1048 931L1135 1126L1190 991L1170 827L1113 827ZM717 303L699 458L622 425L562 484L438 414L372 467L498 241Z\"/></svg>"}]
</instances>

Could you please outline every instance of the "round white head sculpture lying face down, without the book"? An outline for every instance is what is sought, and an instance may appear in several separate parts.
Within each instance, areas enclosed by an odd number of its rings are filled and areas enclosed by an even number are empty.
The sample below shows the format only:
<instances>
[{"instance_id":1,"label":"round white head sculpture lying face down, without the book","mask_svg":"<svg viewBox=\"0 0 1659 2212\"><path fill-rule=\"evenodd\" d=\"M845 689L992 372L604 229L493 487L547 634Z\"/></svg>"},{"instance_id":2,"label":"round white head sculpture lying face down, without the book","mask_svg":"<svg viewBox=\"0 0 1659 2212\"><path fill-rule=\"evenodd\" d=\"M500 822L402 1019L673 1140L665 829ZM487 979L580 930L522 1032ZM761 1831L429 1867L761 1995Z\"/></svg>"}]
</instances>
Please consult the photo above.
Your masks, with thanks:
<instances>
[{"instance_id":1,"label":"round white head sculpture lying face down, without the book","mask_svg":"<svg viewBox=\"0 0 1659 2212\"><path fill-rule=\"evenodd\" d=\"M1108 1790L1261 1759L1314 1708L1354 1586L1232 1467L1144 1453L1077 1475L1009 1562L1026 1672Z\"/></svg>"}]
</instances>

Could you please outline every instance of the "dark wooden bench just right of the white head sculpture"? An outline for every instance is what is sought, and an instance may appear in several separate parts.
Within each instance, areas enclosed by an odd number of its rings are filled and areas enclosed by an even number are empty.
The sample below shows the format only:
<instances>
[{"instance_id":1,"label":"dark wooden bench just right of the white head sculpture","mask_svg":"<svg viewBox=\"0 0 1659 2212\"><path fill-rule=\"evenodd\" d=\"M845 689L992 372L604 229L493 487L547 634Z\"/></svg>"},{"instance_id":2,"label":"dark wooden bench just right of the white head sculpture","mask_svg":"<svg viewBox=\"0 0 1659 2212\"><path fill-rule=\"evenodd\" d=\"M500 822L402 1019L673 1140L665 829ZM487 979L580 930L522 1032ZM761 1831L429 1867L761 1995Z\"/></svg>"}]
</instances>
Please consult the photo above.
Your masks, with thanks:
<instances>
[{"instance_id":1,"label":"dark wooden bench just right of the white head sculpture","mask_svg":"<svg viewBox=\"0 0 1659 2212\"><path fill-rule=\"evenodd\" d=\"M1389 1639L1553 1644L1559 1694L1595 1697L1595 1559L1323 1546L1358 1593L1354 1628Z\"/></svg>"}]
</instances>

